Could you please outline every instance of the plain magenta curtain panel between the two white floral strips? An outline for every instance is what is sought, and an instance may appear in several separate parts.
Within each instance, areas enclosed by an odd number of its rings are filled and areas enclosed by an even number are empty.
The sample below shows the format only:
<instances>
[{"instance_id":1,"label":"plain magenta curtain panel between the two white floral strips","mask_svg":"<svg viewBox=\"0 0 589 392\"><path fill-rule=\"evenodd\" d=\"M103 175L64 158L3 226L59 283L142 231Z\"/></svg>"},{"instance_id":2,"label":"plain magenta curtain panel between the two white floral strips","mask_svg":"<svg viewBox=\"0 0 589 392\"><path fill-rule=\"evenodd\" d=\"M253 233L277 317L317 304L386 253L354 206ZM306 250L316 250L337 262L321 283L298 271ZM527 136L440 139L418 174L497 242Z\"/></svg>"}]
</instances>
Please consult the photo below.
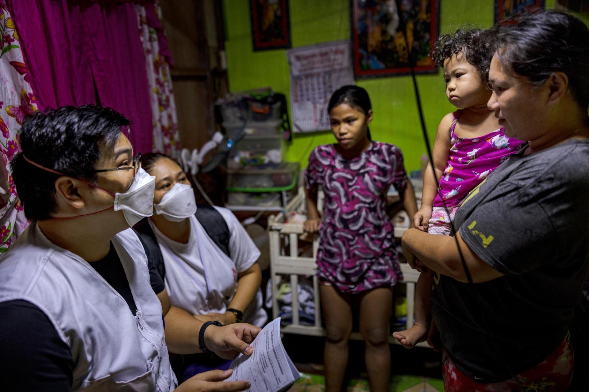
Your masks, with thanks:
<instances>
[{"instance_id":1,"label":"plain magenta curtain panel between the two white floral strips","mask_svg":"<svg viewBox=\"0 0 589 392\"><path fill-rule=\"evenodd\" d=\"M12 0L39 109L100 103L131 120L129 139L151 152L150 86L134 2Z\"/></svg>"}]
</instances>

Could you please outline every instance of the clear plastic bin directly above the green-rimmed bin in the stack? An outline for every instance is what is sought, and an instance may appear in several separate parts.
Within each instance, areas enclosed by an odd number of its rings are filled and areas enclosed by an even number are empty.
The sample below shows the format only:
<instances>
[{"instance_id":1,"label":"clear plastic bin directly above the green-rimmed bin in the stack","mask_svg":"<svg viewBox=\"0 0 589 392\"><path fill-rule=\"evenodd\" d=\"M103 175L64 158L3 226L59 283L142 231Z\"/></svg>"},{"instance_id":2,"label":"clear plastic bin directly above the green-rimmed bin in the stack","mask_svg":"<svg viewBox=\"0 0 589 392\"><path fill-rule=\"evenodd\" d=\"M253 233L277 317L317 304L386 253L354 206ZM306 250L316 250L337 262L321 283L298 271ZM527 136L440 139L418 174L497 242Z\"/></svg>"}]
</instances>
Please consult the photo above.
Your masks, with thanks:
<instances>
[{"instance_id":1,"label":"clear plastic bin directly above the green-rimmed bin in the stack","mask_svg":"<svg viewBox=\"0 0 589 392\"><path fill-rule=\"evenodd\" d=\"M284 136L274 135L245 135L235 143L231 149L227 167L278 167L283 161L286 140Z\"/></svg>"}]
</instances>

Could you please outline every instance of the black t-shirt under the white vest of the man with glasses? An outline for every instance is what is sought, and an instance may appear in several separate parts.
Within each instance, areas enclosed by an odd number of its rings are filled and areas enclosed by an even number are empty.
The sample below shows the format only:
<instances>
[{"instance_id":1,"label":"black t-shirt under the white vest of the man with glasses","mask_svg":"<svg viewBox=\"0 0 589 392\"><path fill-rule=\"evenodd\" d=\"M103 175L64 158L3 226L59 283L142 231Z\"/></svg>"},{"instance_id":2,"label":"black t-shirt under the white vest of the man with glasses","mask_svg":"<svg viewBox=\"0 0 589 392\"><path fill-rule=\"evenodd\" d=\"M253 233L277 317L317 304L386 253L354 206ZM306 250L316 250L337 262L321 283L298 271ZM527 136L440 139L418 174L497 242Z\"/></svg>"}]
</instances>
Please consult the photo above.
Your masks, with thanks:
<instances>
[{"instance_id":1,"label":"black t-shirt under the white vest of the man with glasses","mask_svg":"<svg viewBox=\"0 0 589 392\"><path fill-rule=\"evenodd\" d=\"M151 288L156 294L164 282L147 257ZM102 260L90 263L127 301L131 313L137 306L123 264L112 246ZM68 346L37 306L24 300L0 303L0 381L7 391L70 391L74 362Z\"/></svg>"}]
</instances>

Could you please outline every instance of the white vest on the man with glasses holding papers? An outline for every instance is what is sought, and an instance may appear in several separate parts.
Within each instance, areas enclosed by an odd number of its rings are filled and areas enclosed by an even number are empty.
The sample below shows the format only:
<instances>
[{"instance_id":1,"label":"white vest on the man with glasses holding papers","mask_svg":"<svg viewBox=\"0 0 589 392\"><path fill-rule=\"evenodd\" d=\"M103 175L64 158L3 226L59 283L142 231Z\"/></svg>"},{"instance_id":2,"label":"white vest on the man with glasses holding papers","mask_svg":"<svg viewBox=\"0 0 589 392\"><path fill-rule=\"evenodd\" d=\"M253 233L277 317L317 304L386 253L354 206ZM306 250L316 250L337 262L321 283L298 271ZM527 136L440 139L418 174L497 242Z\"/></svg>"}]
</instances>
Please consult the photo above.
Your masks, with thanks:
<instances>
[{"instance_id":1,"label":"white vest on the man with glasses holding papers","mask_svg":"<svg viewBox=\"0 0 589 392\"><path fill-rule=\"evenodd\" d=\"M137 316L88 262L50 242L37 225L0 262L0 302L25 300L47 315L70 346L72 390L174 390L161 304L151 289L143 246L131 229L112 243Z\"/></svg>"}]
</instances>

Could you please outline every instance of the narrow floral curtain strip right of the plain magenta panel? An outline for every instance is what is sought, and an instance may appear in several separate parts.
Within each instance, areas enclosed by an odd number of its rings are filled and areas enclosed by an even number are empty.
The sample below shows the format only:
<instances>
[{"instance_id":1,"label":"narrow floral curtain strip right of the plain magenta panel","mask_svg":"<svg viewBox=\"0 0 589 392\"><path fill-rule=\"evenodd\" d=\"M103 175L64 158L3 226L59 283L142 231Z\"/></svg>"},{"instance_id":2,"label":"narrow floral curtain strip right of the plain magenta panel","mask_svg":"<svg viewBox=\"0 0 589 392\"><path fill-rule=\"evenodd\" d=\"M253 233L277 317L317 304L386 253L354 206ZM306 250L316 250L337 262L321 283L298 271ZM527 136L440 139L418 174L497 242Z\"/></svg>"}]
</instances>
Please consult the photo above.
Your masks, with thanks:
<instances>
[{"instance_id":1,"label":"narrow floral curtain strip right of the plain magenta panel","mask_svg":"<svg viewBox=\"0 0 589 392\"><path fill-rule=\"evenodd\" d=\"M153 4L136 4L135 11L150 87L153 150L178 158L180 135L170 75L173 60L164 35L161 9L156 0Z\"/></svg>"}]
</instances>

